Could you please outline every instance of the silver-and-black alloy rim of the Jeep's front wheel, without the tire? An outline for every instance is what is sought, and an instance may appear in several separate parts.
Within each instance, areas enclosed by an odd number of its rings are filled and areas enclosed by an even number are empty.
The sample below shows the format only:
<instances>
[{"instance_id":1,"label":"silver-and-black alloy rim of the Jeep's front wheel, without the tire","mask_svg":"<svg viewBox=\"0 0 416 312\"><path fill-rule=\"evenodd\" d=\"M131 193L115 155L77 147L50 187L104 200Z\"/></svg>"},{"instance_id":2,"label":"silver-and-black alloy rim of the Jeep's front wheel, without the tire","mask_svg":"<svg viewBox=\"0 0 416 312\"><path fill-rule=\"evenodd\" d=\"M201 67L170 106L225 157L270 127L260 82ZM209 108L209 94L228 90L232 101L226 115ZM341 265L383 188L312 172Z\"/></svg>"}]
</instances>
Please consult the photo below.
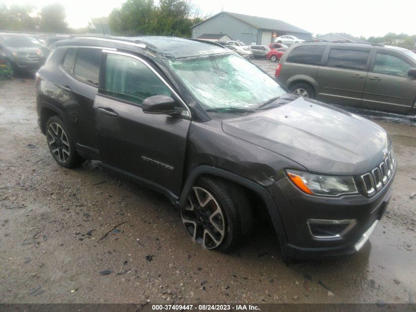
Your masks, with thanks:
<instances>
[{"instance_id":1,"label":"silver-and-black alloy rim of the Jeep's front wheel, without the tire","mask_svg":"<svg viewBox=\"0 0 416 312\"><path fill-rule=\"evenodd\" d=\"M188 206L181 211L188 234L207 249L218 247L225 236L224 212L214 196L204 188L192 187Z\"/></svg>"}]
</instances>

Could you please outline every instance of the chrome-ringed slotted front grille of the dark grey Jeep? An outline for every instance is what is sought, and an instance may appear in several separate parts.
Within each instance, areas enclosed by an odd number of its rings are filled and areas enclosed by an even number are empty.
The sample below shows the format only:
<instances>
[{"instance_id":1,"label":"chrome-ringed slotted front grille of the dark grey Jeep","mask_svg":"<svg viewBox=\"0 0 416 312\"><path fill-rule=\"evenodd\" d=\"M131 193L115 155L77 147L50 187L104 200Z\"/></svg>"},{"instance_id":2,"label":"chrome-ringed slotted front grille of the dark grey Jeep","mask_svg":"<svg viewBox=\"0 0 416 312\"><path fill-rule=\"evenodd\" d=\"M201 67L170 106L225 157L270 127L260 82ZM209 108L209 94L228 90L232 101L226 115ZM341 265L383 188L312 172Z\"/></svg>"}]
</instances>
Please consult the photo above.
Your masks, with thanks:
<instances>
[{"instance_id":1,"label":"chrome-ringed slotted front grille of the dark grey Jeep","mask_svg":"<svg viewBox=\"0 0 416 312\"><path fill-rule=\"evenodd\" d=\"M394 169L395 159L393 157L392 151L388 152L388 157L385 158L384 162L371 172L361 175L364 193L370 195L383 188Z\"/></svg>"}]
</instances>

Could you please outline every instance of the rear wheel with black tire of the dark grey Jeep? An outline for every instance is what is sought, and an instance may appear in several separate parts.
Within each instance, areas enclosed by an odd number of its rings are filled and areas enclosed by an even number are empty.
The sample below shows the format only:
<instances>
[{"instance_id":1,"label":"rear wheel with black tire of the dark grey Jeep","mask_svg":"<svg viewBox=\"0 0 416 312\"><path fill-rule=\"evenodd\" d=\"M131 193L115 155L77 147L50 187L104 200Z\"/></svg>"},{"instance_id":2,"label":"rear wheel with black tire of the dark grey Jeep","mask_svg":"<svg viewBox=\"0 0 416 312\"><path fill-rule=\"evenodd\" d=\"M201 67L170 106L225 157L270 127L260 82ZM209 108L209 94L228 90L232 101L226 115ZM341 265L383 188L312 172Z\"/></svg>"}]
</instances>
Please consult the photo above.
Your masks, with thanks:
<instances>
[{"instance_id":1,"label":"rear wheel with black tire of the dark grey Jeep","mask_svg":"<svg viewBox=\"0 0 416 312\"><path fill-rule=\"evenodd\" d=\"M58 116L52 116L46 122L46 141L53 158L58 165L74 168L81 165L85 159L78 155L75 149L74 136L69 127Z\"/></svg>"}]
</instances>

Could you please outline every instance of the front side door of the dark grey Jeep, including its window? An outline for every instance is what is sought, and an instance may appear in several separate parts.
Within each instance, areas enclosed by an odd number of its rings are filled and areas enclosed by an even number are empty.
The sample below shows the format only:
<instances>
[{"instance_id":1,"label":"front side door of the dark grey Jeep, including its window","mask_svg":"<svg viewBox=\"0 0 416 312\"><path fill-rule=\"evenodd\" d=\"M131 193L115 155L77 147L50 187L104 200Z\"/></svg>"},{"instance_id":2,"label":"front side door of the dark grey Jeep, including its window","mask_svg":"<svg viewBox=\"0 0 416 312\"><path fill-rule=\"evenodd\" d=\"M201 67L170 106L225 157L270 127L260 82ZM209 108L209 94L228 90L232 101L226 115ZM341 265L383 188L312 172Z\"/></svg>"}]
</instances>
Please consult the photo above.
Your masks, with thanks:
<instances>
[{"instance_id":1,"label":"front side door of the dark grey Jeep, including its window","mask_svg":"<svg viewBox=\"0 0 416 312\"><path fill-rule=\"evenodd\" d=\"M134 55L107 51L94 103L102 162L111 169L179 195L189 116L145 114L143 100L167 95L185 106L158 69ZM186 108L186 107L184 107ZM188 110L189 111L189 110Z\"/></svg>"}]
</instances>

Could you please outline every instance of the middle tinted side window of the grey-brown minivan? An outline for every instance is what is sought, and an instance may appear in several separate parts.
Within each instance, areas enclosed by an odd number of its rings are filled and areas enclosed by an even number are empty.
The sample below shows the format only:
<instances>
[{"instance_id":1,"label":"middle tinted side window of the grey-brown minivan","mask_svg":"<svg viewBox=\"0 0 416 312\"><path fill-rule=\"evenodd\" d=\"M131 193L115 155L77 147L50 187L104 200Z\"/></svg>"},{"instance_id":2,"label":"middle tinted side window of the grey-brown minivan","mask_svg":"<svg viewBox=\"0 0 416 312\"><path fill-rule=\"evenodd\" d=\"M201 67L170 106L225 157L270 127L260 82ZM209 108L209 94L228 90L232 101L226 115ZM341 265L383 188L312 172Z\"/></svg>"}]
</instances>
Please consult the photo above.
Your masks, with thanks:
<instances>
[{"instance_id":1,"label":"middle tinted side window of the grey-brown minivan","mask_svg":"<svg viewBox=\"0 0 416 312\"><path fill-rule=\"evenodd\" d=\"M370 51L331 49L329 52L329 67L364 70L367 66Z\"/></svg>"}]
</instances>

